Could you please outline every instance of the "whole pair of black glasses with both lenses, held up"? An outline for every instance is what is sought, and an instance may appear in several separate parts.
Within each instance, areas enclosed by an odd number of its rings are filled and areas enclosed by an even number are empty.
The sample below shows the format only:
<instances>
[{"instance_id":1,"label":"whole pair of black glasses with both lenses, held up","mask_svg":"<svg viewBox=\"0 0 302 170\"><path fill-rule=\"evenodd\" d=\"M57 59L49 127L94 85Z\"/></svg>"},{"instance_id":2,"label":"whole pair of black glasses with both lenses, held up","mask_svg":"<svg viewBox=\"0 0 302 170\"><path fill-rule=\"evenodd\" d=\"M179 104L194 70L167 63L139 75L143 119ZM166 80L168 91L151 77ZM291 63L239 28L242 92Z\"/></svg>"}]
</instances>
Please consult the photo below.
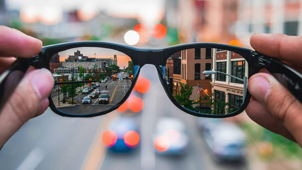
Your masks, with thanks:
<instances>
[{"instance_id":1,"label":"whole pair of black glasses with both lenses, held up","mask_svg":"<svg viewBox=\"0 0 302 170\"><path fill-rule=\"evenodd\" d=\"M46 46L30 59L18 58L0 76L0 109L28 67L34 66L53 74L49 106L54 113L67 117L104 115L133 97L130 93L145 64L155 65L172 103L198 117L225 118L243 112L251 98L248 79L264 68L302 99L300 73L276 58L247 48L192 43L139 49L80 41Z\"/></svg>"}]
</instances>

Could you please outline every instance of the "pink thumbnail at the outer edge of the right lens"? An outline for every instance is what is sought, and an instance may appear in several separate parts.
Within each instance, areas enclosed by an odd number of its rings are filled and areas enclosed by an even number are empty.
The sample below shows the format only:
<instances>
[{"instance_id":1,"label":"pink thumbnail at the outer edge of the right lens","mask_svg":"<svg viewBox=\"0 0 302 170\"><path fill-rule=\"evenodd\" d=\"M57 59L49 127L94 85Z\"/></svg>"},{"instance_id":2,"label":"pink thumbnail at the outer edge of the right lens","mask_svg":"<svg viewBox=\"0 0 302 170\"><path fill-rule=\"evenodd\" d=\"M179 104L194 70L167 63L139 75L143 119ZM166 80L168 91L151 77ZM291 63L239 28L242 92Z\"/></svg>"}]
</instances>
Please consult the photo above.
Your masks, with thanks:
<instances>
[{"instance_id":1,"label":"pink thumbnail at the outer edge of the right lens","mask_svg":"<svg viewBox=\"0 0 302 170\"><path fill-rule=\"evenodd\" d=\"M268 91L271 89L271 85L262 76L253 77L249 80L249 92L259 102L265 104Z\"/></svg>"}]
</instances>

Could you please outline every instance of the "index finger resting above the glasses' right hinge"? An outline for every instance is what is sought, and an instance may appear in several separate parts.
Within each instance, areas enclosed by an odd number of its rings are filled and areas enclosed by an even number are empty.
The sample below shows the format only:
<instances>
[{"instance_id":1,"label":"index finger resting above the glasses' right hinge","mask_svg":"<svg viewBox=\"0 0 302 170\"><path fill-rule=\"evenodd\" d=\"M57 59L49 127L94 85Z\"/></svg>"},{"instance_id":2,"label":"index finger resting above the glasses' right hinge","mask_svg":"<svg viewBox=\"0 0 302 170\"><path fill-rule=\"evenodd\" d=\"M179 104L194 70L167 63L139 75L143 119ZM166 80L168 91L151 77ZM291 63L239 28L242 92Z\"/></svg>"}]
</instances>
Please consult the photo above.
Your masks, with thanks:
<instances>
[{"instance_id":1,"label":"index finger resting above the glasses' right hinge","mask_svg":"<svg viewBox=\"0 0 302 170\"><path fill-rule=\"evenodd\" d=\"M302 36L284 34L253 34L251 46L259 53L276 57L289 63L302 63Z\"/></svg>"}]
</instances>

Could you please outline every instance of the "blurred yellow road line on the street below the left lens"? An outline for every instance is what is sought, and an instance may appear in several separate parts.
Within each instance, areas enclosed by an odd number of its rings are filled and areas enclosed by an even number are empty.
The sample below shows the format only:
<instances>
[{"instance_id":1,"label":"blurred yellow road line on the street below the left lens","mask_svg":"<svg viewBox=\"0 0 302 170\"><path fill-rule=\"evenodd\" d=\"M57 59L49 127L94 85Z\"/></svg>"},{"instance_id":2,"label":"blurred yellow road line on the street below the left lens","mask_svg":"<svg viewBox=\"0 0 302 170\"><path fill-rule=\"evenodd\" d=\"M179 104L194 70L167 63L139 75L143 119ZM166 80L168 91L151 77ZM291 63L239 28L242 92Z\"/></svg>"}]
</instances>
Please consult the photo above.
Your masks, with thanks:
<instances>
[{"instance_id":1,"label":"blurred yellow road line on the street below the left lens","mask_svg":"<svg viewBox=\"0 0 302 170\"><path fill-rule=\"evenodd\" d=\"M102 135L107 130L111 120L118 115L118 112L104 115L81 170L99 170L101 168L107 153L106 146L102 141Z\"/></svg>"}]
</instances>

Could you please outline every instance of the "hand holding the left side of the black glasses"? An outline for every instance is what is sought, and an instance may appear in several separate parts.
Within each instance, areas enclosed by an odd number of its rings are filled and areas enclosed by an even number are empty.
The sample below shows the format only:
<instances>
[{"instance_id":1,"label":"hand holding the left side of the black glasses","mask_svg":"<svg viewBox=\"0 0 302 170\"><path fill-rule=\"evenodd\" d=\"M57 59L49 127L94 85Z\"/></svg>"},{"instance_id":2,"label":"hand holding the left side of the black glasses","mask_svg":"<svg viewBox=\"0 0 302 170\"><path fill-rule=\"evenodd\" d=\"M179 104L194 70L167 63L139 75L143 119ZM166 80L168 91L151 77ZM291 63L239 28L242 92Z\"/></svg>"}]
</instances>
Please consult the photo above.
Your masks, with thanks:
<instances>
[{"instance_id":1,"label":"hand holding the left side of the black glasses","mask_svg":"<svg viewBox=\"0 0 302 170\"><path fill-rule=\"evenodd\" d=\"M15 60L38 54L42 41L0 25L0 74ZM47 69L30 67L0 111L0 148L29 119L41 115L48 107L53 76Z\"/></svg>"}]
</instances>

